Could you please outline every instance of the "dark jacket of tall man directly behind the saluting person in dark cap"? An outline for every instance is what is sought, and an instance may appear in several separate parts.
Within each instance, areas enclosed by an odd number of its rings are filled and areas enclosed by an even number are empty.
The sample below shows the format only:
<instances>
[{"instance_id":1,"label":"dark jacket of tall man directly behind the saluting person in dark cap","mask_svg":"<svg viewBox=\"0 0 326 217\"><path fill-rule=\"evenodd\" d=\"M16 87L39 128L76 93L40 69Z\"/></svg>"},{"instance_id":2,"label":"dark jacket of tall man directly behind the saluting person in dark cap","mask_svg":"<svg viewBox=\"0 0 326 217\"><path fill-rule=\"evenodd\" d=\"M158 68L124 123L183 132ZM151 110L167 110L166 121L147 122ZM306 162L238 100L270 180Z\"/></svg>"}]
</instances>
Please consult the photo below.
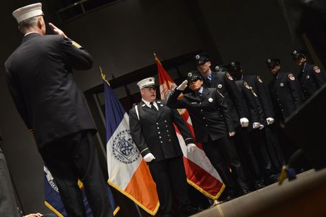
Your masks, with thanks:
<instances>
[{"instance_id":1,"label":"dark jacket of tall man directly behind the saluting person in dark cap","mask_svg":"<svg viewBox=\"0 0 326 217\"><path fill-rule=\"evenodd\" d=\"M235 127L240 126L239 119L241 117L248 117L245 106L242 103L240 93L235 85L235 81L226 71L212 71L211 83L204 78L204 87L216 88L221 95L224 96L226 103L230 109L233 124Z\"/></svg>"}]
</instances>

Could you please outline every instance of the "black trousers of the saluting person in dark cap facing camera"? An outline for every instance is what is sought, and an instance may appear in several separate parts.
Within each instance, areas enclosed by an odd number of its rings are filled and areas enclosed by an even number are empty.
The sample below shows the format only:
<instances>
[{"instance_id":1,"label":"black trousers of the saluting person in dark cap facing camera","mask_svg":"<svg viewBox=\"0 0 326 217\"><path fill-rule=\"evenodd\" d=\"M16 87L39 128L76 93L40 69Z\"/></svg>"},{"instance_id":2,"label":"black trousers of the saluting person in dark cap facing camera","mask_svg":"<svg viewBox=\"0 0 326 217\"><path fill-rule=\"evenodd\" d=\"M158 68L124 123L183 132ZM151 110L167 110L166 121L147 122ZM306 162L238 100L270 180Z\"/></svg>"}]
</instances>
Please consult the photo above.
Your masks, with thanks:
<instances>
[{"instance_id":1,"label":"black trousers of the saluting person in dark cap facing camera","mask_svg":"<svg viewBox=\"0 0 326 217\"><path fill-rule=\"evenodd\" d=\"M237 151L235 150L235 142L230 137L222 137L212 141L209 139L207 142L202 143L204 152L214 168L219 172L219 176L226 185L227 194L235 193L236 183L239 184L241 190L248 187L246 184L246 176L243 172L243 166L239 161ZM228 166L232 170L228 170Z\"/></svg>"}]
</instances>

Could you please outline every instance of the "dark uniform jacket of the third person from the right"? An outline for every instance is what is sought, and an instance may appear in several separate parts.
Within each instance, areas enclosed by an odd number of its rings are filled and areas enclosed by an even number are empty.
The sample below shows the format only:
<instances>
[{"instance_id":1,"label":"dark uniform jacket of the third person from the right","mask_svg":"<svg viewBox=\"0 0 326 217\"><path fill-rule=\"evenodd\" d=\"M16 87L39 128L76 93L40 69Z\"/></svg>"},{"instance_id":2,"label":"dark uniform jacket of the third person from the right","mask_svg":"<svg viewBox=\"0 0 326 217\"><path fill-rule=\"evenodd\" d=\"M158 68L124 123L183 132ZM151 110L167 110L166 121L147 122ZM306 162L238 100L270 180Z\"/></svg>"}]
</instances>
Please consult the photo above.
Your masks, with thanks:
<instances>
[{"instance_id":1,"label":"dark uniform jacket of the third person from the right","mask_svg":"<svg viewBox=\"0 0 326 217\"><path fill-rule=\"evenodd\" d=\"M252 90L258 96L257 105L259 106L259 113L261 115L261 124L265 122L267 117L274 117L270 95L268 95L268 91L265 89L263 80L257 75L243 75L242 79L248 82L248 85L252 87Z\"/></svg>"}]
</instances>

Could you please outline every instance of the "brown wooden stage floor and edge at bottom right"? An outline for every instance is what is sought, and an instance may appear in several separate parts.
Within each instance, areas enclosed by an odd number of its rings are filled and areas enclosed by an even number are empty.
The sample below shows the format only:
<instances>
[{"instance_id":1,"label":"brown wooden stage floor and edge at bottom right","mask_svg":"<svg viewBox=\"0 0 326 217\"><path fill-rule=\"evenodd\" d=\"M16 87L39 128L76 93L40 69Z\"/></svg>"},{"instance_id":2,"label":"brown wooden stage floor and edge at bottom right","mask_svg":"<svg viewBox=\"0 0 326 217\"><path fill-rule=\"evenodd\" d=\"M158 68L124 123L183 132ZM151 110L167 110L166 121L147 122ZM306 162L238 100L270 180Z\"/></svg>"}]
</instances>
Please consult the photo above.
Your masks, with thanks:
<instances>
[{"instance_id":1,"label":"brown wooden stage floor and edge at bottom right","mask_svg":"<svg viewBox=\"0 0 326 217\"><path fill-rule=\"evenodd\" d=\"M326 169L303 172L293 181L268 185L193 215L204 216L325 217Z\"/></svg>"}]
</instances>

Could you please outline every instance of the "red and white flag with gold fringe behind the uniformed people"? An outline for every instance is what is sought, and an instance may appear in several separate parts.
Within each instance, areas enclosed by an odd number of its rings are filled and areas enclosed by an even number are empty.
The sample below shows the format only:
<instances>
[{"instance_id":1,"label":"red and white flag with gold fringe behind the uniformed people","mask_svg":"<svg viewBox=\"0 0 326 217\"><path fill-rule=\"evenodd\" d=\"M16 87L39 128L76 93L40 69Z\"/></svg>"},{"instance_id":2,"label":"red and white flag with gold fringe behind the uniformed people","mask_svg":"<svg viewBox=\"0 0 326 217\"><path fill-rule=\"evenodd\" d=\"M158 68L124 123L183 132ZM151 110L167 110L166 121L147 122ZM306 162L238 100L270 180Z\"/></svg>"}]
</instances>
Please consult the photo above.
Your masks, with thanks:
<instances>
[{"instance_id":1,"label":"red and white flag with gold fringe behind the uniformed people","mask_svg":"<svg viewBox=\"0 0 326 217\"><path fill-rule=\"evenodd\" d=\"M162 64L157 56L155 54L154 56L158 70L160 95L161 99L165 100L166 94L175 89L177 85L162 67ZM191 124L191 118L189 117L188 111L186 111L186 109L179 109L179 113L188 125L189 130L191 130L191 134L195 138L193 125ZM184 139L182 138L179 130L177 130L176 126L175 130L177 132L177 137L184 154L184 168L186 170L188 183L199 190L199 192L202 192L202 194L208 196L208 198L213 200L219 198L224 190L225 185L213 165L206 157L202 148L202 144L196 144L197 150L193 154L187 152L187 147Z\"/></svg>"}]
</instances>

